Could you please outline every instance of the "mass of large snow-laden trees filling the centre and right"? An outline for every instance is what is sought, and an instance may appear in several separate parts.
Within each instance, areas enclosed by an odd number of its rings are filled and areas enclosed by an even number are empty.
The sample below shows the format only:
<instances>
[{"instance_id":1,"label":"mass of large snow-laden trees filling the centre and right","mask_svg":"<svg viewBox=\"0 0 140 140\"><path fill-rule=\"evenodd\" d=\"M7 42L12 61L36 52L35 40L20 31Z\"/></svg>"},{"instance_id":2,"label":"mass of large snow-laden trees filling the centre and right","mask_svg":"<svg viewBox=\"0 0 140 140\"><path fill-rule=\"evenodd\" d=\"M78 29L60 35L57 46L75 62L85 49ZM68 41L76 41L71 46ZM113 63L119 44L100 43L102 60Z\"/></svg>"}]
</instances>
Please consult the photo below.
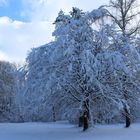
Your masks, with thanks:
<instances>
[{"instance_id":1,"label":"mass of large snow-laden trees filling the centre and right","mask_svg":"<svg viewBox=\"0 0 140 140\"><path fill-rule=\"evenodd\" d=\"M12 97L20 120L77 122L84 115L90 124L125 120L129 127L140 115L136 2L112 0L91 12L59 12L55 40L33 48L17 71Z\"/></svg>"}]
</instances>

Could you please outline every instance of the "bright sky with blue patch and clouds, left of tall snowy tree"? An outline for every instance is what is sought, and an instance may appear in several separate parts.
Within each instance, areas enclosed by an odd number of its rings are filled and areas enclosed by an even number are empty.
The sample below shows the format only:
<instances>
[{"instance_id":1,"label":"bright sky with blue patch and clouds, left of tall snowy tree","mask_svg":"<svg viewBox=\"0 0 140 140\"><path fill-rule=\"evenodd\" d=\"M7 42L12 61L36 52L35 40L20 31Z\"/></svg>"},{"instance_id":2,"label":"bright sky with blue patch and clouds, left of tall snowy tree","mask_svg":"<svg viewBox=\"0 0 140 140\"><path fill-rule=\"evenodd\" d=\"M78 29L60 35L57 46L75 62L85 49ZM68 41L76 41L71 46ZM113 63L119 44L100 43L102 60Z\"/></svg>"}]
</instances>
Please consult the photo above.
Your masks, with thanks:
<instances>
[{"instance_id":1,"label":"bright sky with blue patch and clouds, left of tall snowy tree","mask_svg":"<svg viewBox=\"0 0 140 140\"><path fill-rule=\"evenodd\" d=\"M109 0L0 0L0 60L24 61L31 48L53 40L60 9L91 11Z\"/></svg>"}]
</instances>

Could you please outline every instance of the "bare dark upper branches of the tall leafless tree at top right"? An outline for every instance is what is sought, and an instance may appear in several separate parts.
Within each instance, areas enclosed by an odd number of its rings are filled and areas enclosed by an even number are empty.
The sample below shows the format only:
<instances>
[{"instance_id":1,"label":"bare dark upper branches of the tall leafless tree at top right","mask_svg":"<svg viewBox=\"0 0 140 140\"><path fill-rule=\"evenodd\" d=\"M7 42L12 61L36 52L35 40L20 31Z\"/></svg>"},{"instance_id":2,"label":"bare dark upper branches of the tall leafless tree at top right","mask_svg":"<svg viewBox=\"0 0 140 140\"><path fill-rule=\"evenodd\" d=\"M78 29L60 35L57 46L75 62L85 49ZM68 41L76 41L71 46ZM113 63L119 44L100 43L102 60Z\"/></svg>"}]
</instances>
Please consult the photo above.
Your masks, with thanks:
<instances>
[{"instance_id":1,"label":"bare dark upper branches of the tall leafless tree at top right","mask_svg":"<svg viewBox=\"0 0 140 140\"><path fill-rule=\"evenodd\" d=\"M110 4L103 7L123 36L130 37L140 31L138 0L110 0Z\"/></svg>"}]
</instances>

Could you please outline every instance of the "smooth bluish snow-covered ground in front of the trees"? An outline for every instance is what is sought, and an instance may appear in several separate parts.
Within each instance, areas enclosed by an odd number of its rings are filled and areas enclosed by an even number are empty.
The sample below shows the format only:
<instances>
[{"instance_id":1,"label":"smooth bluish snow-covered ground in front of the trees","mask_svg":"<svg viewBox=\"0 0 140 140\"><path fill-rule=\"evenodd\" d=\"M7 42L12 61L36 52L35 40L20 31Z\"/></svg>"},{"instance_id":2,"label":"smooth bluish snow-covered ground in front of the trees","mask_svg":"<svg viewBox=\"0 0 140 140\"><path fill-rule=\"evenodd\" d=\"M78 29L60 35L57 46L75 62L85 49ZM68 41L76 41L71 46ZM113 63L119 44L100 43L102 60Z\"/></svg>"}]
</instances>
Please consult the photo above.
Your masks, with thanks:
<instances>
[{"instance_id":1,"label":"smooth bluish snow-covered ground in front of the trees","mask_svg":"<svg viewBox=\"0 0 140 140\"><path fill-rule=\"evenodd\" d=\"M140 140L140 124L96 125L83 132L67 122L1 123L0 140Z\"/></svg>"}]
</instances>

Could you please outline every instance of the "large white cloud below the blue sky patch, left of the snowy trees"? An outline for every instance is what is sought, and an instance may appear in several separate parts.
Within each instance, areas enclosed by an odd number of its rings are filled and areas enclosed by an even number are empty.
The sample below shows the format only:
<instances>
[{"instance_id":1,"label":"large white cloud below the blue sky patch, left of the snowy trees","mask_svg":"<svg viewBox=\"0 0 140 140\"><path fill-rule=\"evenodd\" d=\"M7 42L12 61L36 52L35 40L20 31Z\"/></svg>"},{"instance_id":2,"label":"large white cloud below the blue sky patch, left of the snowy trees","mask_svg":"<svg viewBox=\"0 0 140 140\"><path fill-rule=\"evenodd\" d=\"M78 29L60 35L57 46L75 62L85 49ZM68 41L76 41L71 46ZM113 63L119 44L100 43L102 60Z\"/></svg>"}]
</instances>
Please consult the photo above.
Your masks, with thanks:
<instances>
[{"instance_id":1,"label":"large white cloud below the blue sky patch, left of the snowy trees","mask_svg":"<svg viewBox=\"0 0 140 140\"><path fill-rule=\"evenodd\" d=\"M28 50L49 42L53 27L46 21L20 22L0 17L0 50L10 61L23 61Z\"/></svg>"}]
</instances>

